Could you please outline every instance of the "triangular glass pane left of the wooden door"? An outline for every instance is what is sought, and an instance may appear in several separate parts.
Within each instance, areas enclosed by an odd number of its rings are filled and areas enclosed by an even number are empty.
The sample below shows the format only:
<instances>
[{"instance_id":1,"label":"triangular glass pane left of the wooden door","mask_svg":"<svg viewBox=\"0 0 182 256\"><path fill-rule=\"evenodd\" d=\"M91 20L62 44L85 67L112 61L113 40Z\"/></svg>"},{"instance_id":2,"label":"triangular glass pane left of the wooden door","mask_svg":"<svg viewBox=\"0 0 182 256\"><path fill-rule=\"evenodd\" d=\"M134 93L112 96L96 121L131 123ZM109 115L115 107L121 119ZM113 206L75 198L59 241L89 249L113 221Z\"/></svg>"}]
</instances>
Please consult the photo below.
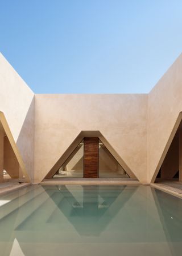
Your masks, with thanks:
<instances>
[{"instance_id":1,"label":"triangular glass pane left of the wooden door","mask_svg":"<svg viewBox=\"0 0 182 256\"><path fill-rule=\"evenodd\" d=\"M63 163L52 178L83 178L84 177L84 141Z\"/></svg>"}]
</instances>

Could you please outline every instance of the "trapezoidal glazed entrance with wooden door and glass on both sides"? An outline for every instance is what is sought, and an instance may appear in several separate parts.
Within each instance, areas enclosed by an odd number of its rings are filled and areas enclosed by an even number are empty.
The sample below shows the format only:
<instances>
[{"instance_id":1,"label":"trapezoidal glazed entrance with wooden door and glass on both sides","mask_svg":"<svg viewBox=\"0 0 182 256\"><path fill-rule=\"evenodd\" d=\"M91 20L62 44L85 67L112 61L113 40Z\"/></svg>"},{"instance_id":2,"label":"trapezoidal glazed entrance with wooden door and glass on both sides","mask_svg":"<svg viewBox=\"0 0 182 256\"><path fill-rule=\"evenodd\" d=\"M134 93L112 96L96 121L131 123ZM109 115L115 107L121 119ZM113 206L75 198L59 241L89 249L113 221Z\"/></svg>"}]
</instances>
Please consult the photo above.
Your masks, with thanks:
<instances>
[{"instance_id":1,"label":"trapezoidal glazed entrance with wooden door and glass on both sides","mask_svg":"<svg viewBox=\"0 0 182 256\"><path fill-rule=\"evenodd\" d=\"M130 178L98 137L85 137L52 178Z\"/></svg>"}]
</instances>

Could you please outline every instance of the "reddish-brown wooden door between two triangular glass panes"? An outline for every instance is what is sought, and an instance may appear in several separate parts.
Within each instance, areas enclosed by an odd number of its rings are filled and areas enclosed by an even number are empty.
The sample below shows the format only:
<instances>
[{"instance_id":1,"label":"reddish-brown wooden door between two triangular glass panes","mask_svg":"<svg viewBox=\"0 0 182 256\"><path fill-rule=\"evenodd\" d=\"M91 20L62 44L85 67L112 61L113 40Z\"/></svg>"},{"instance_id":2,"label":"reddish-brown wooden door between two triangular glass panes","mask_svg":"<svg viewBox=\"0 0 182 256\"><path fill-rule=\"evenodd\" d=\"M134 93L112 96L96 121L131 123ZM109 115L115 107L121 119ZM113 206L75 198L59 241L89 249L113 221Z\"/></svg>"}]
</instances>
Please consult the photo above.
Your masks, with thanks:
<instances>
[{"instance_id":1,"label":"reddish-brown wooden door between two triangular glass panes","mask_svg":"<svg viewBox=\"0 0 182 256\"><path fill-rule=\"evenodd\" d=\"M84 178L98 178L98 138L84 138Z\"/></svg>"}]
</instances>

